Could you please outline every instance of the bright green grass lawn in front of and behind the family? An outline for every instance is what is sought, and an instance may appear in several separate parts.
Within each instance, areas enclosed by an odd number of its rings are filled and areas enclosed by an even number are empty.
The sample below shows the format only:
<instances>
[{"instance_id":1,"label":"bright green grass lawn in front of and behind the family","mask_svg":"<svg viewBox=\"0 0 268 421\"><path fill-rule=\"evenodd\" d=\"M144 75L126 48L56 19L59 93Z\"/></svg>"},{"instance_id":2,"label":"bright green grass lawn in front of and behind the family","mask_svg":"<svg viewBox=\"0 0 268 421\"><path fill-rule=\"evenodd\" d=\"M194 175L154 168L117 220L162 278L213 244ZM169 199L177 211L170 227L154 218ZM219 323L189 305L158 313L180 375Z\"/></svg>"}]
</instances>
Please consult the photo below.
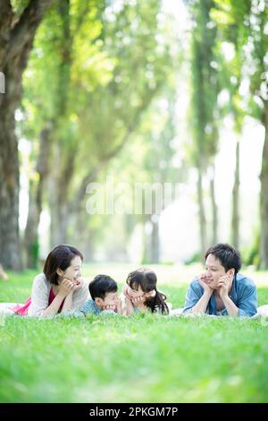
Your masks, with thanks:
<instances>
[{"instance_id":1,"label":"bright green grass lawn in front of and behind the family","mask_svg":"<svg viewBox=\"0 0 268 421\"><path fill-rule=\"evenodd\" d=\"M152 266L154 268L154 266ZM130 265L88 265L121 285ZM197 266L155 267L173 308ZM243 271L245 273L245 271ZM0 302L24 302L36 272L0 281ZM250 274L259 305L268 274ZM266 288L265 288L266 287ZM268 323L232 318L0 318L1 402L267 402Z\"/></svg>"}]
</instances>

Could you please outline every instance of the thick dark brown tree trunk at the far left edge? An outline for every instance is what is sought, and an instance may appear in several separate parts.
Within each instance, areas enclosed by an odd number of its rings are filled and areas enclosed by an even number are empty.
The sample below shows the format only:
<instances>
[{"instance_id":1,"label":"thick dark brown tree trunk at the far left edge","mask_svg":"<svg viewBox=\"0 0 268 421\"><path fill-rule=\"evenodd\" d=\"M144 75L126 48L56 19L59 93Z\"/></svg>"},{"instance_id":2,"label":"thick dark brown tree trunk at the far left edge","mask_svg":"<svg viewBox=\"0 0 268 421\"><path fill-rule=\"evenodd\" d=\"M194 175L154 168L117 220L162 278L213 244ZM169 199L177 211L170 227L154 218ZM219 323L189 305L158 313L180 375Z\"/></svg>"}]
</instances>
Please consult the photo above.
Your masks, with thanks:
<instances>
[{"instance_id":1,"label":"thick dark brown tree trunk at the far left edge","mask_svg":"<svg viewBox=\"0 0 268 421\"><path fill-rule=\"evenodd\" d=\"M0 255L4 267L21 269L19 236L20 166L15 111L21 102L21 78L38 25L51 0L30 0L15 18L10 1L0 3Z\"/></svg>"}]
</instances>

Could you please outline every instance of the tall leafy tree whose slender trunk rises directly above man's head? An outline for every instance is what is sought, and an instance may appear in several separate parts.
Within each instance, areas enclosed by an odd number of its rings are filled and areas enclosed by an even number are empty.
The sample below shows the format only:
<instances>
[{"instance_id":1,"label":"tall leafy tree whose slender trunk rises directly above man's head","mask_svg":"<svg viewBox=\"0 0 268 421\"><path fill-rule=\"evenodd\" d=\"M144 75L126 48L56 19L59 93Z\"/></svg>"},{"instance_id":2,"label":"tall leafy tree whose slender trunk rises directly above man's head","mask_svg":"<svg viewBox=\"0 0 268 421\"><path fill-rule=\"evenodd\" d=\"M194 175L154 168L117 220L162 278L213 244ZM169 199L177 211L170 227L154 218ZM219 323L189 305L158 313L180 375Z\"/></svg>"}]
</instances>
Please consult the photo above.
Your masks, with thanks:
<instances>
[{"instance_id":1,"label":"tall leafy tree whose slender trunk rises directly above man's head","mask_svg":"<svg viewBox=\"0 0 268 421\"><path fill-rule=\"evenodd\" d=\"M225 113L230 113L233 117L233 129L236 135L235 148L235 174L232 188L230 241L236 248L239 248L240 234L240 138L243 129L243 119L245 107L240 94L241 83L243 82L243 64L245 56L243 47L248 38L248 27L245 26L245 19L250 13L250 1L244 0L239 4L236 2L223 2L215 0L215 8L211 15L216 21L220 30L218 31L219 48L223 43L229 43L233 47L233 56L222 61L222 88L229 90L230 101L225 109Z\"/></svg>"}]
</instances>

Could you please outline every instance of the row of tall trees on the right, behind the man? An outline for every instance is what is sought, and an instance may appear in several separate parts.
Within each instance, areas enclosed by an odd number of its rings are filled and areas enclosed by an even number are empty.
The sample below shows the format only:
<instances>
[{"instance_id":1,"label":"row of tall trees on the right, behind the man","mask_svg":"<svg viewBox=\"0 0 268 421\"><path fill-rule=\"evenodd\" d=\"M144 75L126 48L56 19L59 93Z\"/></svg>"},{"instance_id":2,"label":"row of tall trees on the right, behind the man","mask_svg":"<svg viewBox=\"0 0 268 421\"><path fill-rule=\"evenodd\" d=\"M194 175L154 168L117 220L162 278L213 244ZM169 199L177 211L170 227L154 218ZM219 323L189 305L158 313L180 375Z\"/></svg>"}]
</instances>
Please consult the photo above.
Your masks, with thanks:
<instances>
[{"instance_id":1,"label":"row of tall trees on the right, behind the man","mask_svg":"<svg viewBox=\"0 0 268 421\"><path fill-rule=\"evenodd\" d=\"M189 0L191 31L191 116L193 125L192 161L198 171L200 249L204 255L217 238L218 211L214 199L214 158L218 150L222 117L229 114L236 133L236 170L232 192L230 241L239 247L239 146L244 117L253 116L264 125L265 139L260 176L260 262L268 267L268 31L267 4L259 0ZM233 56L227 59L222 46L228 43ZM241 84L249 81L247 98ZM222 104L219 94L229 91L229 102ZM254 140L252 140L254 142ZM211 180L213 233L208 238L203 198L203 178Z\"/></svg>"}]
</instances>

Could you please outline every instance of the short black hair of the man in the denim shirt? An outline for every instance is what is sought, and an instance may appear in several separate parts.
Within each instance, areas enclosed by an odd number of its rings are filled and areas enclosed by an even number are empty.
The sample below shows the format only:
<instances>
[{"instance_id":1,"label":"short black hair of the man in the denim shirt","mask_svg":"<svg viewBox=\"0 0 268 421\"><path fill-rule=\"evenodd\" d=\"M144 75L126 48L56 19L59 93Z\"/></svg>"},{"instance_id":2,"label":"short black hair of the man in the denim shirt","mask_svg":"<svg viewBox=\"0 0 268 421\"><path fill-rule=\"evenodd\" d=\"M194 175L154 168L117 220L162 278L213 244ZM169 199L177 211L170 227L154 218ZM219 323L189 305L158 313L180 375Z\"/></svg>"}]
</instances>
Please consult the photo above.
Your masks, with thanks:
<instances>
[{"instance_id":1,"label":"short black hair of the man in the denim shirt","mask_svg":"<svg viewBox=\"0 0 268 421\"><path fill-rule=\"evenodd\" d=\"M231 245L219 243L213 247L210 247L206 251L205 259L207 258L208 254L213 254L214 257L219 259L226 272L230 269L234 269L235 274L237 274L241 269L241 255L239 251Z\"/></svg>"}]
</instances>

